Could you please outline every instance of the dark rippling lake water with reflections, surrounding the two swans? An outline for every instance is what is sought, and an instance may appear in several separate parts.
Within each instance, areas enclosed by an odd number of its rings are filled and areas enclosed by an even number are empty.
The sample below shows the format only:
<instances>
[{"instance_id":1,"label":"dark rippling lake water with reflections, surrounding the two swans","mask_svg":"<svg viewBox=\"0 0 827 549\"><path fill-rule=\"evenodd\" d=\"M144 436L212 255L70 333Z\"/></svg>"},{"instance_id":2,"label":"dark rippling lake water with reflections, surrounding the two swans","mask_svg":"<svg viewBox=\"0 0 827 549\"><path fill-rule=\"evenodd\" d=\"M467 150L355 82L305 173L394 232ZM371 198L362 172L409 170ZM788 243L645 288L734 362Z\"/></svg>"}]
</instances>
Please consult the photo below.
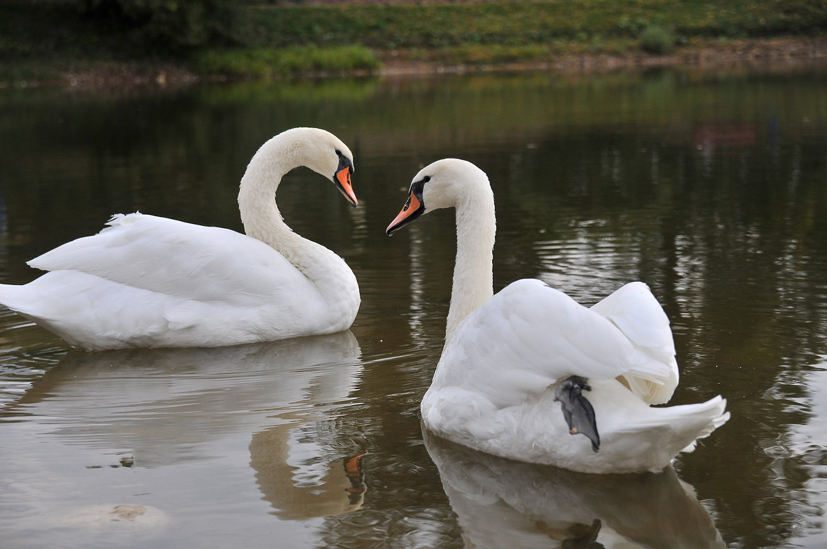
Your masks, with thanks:
<instances>
[{"instance_id":1,"label":"dark rippling lake water with reflections, surrounding the two swans","mask_svg":"<svg viewBox=\"0 0 827 549\"><path fill-rule=\"evenodd\" d=\"M307 169L278 196L356 273L351 330L84 352L2 309L2 547L827 545L827 68L2 90L0 281L112 213L241 230L247 162L296 126L356 155L359 208ZM452 214L384 230L446 156L490 176L495 289L537 277L592 304L647 282L672 403L723 394L732 419L662 475L423 433Z\"/></svg>"}]
</instances>

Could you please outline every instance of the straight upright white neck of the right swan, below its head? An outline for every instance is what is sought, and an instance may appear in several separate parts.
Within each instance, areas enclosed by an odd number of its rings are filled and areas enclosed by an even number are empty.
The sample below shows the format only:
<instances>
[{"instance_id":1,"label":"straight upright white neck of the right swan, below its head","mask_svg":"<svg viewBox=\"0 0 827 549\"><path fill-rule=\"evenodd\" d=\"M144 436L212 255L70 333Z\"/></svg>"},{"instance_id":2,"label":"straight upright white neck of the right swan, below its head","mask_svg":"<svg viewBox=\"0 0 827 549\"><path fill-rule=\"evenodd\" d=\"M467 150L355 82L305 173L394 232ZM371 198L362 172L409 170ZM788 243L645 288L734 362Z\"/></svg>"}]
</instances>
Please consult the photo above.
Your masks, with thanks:
<instances>
[{"instance_id":1,"label":"straight upright white neck of the right swan, below its head","mask_svg":"<svg viewBox=\"0 0 827 549\"><path fill-rule=\"evenodd\" d=\"M487 193L471 195L457 205L457 263L445 328L446 342L465 317L494 295L496 230L490 188Z\"/></svg>"}]
</instances>

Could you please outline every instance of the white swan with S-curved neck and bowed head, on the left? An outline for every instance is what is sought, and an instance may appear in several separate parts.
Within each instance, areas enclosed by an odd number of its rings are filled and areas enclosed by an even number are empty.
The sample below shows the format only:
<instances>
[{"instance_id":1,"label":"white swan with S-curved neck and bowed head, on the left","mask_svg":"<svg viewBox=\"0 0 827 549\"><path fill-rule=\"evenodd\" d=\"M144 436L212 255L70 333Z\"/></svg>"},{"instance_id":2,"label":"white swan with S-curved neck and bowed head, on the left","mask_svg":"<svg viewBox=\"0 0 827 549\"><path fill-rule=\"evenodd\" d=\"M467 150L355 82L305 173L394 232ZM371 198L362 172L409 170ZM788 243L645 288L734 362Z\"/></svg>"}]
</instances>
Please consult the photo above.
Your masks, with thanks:
<instances>
[{"instance_id":1,"label":"white swan with S-curved neck and bowed head, on the left","mask_svg":"<svg viewBox=\"0 0 827 549\"><path fill-rule=\"evenodd\" d=\"M49 271L0 284L0 303L88 350L229 346L342 332L359 285L341 257L294 233L274 200L307 166L356 207L353 155L330 132L283 131L253 155L238 193L246 236L165 217L117 214L108 226L28 262Z\"/></svg>"}]
</instances>

